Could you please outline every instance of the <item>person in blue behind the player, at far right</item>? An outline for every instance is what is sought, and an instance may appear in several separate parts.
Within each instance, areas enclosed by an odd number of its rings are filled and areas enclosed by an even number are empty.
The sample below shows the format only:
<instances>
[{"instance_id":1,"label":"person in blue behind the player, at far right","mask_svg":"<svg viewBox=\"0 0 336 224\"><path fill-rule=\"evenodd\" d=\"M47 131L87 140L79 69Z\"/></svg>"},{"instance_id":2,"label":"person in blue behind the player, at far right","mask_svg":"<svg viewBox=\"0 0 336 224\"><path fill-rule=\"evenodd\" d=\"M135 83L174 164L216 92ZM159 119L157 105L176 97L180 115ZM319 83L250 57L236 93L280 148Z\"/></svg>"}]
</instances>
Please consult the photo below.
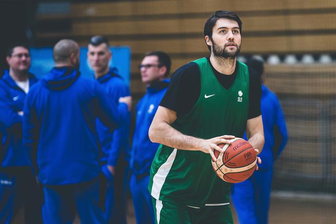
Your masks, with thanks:
<instances>
[{"instance_id":1,"label":"person in blue behind the player, at far right","mask_svg":"<svg viewBox=\"0 0 336 224\"><path fill-rule=\"evenodd\" d=\"M257 71L263 83L263 61L252 58L247 65ZM262 163L249 179L231 187L231 199L240 224L268 223L273 162L287 142L286 122L279 100L265 85L262 85L261 114L265 135L265 145L259 155Z\"/></svg>"}]
</instances>

